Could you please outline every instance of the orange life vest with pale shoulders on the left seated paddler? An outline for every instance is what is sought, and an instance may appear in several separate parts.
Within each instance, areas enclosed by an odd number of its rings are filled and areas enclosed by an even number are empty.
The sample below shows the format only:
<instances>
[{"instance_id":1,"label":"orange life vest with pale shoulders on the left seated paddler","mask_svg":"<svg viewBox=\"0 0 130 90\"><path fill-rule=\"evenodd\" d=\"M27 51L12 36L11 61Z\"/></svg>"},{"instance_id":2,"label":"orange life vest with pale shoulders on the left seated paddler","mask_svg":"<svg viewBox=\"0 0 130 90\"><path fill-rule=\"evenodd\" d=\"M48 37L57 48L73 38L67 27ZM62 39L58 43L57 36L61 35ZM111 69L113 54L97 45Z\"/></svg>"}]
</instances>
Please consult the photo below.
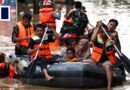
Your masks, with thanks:
<instances>
[{"instance_id":1,"label":"orange life vest with pale shoulders on the left seated paddler","mask_svg":"<svg viewBox=\"0 0 130 90\"><path fill-rule=\"evenodd\" d=\"M39 44L41 42L41 38L38 37L38 36L33 36L32 39L35 42L34 49L38 48ZM44 40L47 40L47 39L48 38L44 38ZM44 43L44 41L43 41L43 44L42 44L41 48L42 49L39 50L39 52L38 52L38 57L45 58L47 60L51 59L52 55L51 55L51 52L50 52L49 44L48 43ZM32 53L31 56L32 56L33 59L34 59L35 55L36 55L36 52Z\"/></svg>"}]
</instances>

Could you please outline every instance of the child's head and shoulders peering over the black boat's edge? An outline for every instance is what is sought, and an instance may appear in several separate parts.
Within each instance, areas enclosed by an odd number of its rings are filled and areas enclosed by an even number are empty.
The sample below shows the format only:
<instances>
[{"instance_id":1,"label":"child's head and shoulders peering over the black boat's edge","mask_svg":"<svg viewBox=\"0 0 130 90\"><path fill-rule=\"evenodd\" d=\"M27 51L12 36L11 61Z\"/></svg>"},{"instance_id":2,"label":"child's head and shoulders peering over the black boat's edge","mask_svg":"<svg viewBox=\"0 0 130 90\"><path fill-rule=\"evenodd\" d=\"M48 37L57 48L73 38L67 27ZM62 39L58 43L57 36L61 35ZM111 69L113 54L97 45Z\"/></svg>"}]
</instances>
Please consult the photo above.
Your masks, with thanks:
<instances>
[{"instance_id":1,"label":"child's head and shoulders peering over the black boat's edge","mask_svg":"<svg viewBox=\"0 0 130 90\"><path fill-rule=\"evenodd\" d=\"M76 58L75 48L73 48L73 47L67 48L65 61L67 61L67 62L78 62L79 61Z\"/></svg>"}]
</instances>

